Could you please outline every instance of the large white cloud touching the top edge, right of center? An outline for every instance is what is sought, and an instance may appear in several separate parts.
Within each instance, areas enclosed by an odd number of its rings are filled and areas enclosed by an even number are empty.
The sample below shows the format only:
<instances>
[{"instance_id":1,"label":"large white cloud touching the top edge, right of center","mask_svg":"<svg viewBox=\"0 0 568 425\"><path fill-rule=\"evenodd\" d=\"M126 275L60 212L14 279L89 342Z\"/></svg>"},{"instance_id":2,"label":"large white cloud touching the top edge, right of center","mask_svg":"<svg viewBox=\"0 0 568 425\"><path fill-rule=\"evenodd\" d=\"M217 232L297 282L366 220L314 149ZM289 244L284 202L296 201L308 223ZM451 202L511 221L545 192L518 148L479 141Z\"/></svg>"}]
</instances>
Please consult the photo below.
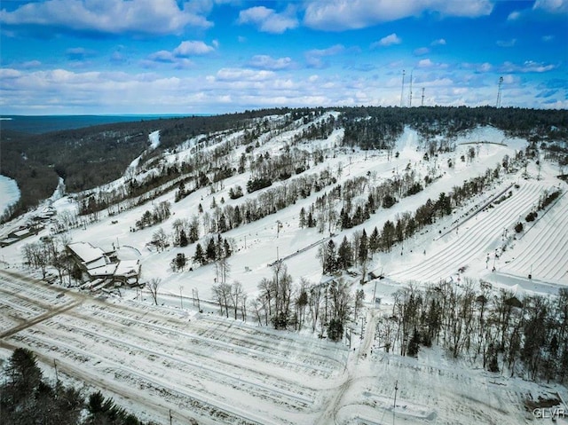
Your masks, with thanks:
<instances>
[{"instance_id":1,"label":"large white cloud touching the top edge, right of center","mask_svg":"<svg viewBox=\"0 0 568 425\"><path fill-rule=\"evenodd\" d=\"M367 28L425 12L473 18L488 15L492 10L490 0L309 0L304 24L310 28L342 31Z\"/></svg>"}]
</instances>

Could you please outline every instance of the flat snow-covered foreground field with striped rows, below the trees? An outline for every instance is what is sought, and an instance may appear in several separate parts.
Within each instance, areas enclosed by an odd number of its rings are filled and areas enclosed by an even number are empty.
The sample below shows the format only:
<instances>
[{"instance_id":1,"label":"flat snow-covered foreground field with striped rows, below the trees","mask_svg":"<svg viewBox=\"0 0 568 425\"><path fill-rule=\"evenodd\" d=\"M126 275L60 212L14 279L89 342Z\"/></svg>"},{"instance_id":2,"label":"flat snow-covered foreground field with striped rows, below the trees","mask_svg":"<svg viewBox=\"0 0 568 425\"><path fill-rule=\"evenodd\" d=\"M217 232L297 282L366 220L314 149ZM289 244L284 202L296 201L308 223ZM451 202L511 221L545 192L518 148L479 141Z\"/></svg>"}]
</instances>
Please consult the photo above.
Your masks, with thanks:
<instances>
[{"instance_id":1,"label":"flat snow-covered foreground field with striped rows, below the trees","mask_svg":"<svg viewBox=\"0 0 568 425\"><path fill-rule=\"evenodd\" d=\"M531 419L527 394L567 395L456 367L441 350L418 359L373 351L376 311L351 350L312 335L68 293L10 271L0 282L4 350L28 347L46 374L55 361L60 379L102 388L158 423L171 412L179 424L517 425Z\"/></svg>"}]
</instances>

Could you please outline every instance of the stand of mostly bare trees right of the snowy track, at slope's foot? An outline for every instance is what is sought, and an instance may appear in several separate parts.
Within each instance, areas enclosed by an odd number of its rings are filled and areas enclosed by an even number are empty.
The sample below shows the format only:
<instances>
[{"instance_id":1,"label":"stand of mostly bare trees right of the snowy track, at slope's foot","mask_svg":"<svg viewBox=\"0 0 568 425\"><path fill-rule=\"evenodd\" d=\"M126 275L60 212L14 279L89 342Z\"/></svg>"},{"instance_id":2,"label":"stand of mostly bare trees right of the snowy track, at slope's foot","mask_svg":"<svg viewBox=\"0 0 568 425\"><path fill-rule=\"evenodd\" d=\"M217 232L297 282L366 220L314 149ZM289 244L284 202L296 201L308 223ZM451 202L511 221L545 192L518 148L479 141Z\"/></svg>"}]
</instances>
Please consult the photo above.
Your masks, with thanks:
<instances>
[{"instance_id":1,"label":"stand of mostly bare trees right of the snowy track, at slope's foot","mask_svg":"<svg viewBox=\"0 0 568 425\"><path fill-rule=\"evenodd\" d=\"M395 294L376 338L387 352L415 355L436 343L454 358L470 358L492 372L508 370L531 380L568 379L568 290L517 298L469 279Z\"/></svg>"}]
</instances>

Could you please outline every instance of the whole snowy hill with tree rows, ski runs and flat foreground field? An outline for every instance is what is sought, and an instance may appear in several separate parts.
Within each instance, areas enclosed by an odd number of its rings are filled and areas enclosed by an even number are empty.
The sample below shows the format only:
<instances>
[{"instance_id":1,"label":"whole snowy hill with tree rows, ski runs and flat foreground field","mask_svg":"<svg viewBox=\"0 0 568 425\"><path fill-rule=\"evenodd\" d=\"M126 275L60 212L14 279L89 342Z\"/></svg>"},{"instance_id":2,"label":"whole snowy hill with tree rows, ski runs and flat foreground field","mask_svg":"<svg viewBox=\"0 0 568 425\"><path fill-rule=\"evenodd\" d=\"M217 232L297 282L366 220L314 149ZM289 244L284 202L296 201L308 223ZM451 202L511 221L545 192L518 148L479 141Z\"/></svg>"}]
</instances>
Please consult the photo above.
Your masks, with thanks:
<instances>
[{"instance_id":1,"label":"whole snowy hill with tree rows, ski runs and flat foreground field","mask_svg":"<svg viewBox=\"0 0 568 425\"><path fill-rule=\"evenodd\" d=\"M563 408L565 111L241 118L148 124L112 180L59 185L4 224L0 238L57 211L0 250L4 358L57 358L159 422L518 424L539 397ZM72 242L138 262L145 286L91 286Z\"/></svg>"}]
</instances>

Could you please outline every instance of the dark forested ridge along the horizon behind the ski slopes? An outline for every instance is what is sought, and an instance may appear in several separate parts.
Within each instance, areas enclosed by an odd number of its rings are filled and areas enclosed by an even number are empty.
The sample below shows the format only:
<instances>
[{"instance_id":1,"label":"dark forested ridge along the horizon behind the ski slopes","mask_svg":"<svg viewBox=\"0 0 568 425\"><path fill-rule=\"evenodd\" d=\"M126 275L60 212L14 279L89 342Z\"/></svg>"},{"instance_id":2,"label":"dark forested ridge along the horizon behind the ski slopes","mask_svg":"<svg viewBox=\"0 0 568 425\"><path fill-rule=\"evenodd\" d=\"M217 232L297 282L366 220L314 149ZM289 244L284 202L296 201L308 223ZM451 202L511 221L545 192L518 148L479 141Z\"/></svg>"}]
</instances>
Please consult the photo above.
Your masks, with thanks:
<instances>
[{"instance_id":1,"label":"dark forested ridge along the horizon behind the ski slopes","mask_svg":"<svg viewBox=\"0 0 568 425\"><path fill-rule=\"evenodd\" d=\"M175 149L186 140L222 130L248 128L248 138L262 131L263 117L289 113L289 119L304 117L323 109L264 109L241 114L192 116L139 122L117 122L84 129L25 134L12 130L0 132L0 169L16 180L21 189L20 201L12 206L4 220L35 207L58 185L58 177L66 181L68 193L78 193L120 177L124 169L147 147L147 134L160 130L161 149ZM344 146L363 149L388 148L409 126L428 140L444 135L450 141L460 131L480 125L491 125L509 136L522 136L533 141L565 140L568 117L563 110L529 110L492 107L361 107L341 109ZM256 124L252 125L252 122ZM310 128L305 138L320 138L323 127Z\"/></svg>"}]
</instances>

